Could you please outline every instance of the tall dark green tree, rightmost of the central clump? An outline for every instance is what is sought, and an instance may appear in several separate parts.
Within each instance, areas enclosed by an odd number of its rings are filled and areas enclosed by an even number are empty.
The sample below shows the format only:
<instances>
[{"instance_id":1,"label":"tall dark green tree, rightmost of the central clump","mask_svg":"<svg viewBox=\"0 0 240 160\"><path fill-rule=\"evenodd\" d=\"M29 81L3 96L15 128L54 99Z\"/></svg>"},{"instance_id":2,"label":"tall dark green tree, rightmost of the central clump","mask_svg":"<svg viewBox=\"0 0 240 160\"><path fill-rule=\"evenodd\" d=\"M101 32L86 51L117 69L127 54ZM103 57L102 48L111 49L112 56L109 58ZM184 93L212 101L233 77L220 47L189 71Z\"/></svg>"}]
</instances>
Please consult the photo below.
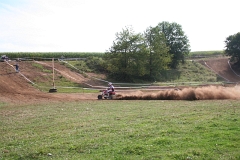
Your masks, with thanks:
<instances>
[{"instance_id":1,"label":"tall dark green tree, rightmost of the central clump","mask_svg":"<svg viewBox=\"0 0 240 160\"><path fill-rule=\"evenodd\" d=\"M169 53L172 55L170 67L176 68L180 62L184 63L185 57L190 52L188 37L177 23L162 22L157 27L159 32L164 34Z\"/></svg>"}]
</instances>

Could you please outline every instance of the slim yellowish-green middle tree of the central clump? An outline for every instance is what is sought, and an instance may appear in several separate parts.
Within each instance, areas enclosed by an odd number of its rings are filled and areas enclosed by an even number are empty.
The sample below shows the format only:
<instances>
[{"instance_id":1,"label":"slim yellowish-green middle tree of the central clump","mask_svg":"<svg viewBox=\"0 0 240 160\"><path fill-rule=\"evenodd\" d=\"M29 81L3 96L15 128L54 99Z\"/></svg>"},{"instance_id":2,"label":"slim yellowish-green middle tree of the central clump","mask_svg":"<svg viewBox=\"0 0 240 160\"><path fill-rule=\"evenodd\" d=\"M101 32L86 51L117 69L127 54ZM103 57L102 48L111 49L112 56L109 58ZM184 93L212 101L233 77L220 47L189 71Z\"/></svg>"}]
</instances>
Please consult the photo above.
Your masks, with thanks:
<instances>
[{"instance_id":1,"label":"slim yellowish-green middle tree of the central clump","mask_svg":"<svg viewBox=\"0 0 240 160\"><path fill-rule=\"evenodd\" d=\"M169 48L166 45L166 39L158 27L149 27L145 33L145 44L147 53L148 75L151 79L159 76L160 71L168 68L171 62Z\"/></svg>"}]
</instances>

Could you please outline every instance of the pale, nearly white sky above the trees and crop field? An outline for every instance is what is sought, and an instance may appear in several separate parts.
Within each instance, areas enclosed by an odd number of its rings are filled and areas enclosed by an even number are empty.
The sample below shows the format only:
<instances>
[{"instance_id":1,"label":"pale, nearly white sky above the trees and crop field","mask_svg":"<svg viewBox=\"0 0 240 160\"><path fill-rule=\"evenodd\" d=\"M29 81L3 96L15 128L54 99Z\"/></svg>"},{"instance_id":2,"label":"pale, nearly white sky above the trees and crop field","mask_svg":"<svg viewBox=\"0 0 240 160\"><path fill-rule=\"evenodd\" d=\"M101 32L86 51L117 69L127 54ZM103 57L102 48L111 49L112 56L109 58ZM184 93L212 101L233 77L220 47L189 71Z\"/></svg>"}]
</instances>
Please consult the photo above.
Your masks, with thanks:
<instances>
[{"instance_id":1,"label":"pale, nearly white sky above the trees and crop field","mask_svg":"<svg viewBox=\"0 0 240 160\"><path fill-rule=\"evenodd\" d=\"M239 0L0 0L0 52L105 52L116 33L176 22L191 51L224 50Z\"/></svg>"}]
</instances>

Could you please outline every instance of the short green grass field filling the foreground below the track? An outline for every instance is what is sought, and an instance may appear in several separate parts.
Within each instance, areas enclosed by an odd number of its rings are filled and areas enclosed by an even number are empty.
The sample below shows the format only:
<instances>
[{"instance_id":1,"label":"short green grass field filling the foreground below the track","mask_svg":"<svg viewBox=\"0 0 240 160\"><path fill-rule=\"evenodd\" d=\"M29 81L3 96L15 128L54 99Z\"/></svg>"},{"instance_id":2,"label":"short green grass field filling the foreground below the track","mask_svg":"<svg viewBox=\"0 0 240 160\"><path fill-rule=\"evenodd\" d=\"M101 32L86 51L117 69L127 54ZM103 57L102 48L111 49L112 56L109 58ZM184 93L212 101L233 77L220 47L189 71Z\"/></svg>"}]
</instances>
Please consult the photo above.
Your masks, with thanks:
<instances>
[{"instance_id":1,"label":"short green grass field filling the foreground below the track","mask_svg":"<svg viewBox=\"0 0 240 160\"><path fill-rule=\"evenodd\" d=\"M0 103L0 159L240 159L240 102Z\"/></svg>"}]
</instances>

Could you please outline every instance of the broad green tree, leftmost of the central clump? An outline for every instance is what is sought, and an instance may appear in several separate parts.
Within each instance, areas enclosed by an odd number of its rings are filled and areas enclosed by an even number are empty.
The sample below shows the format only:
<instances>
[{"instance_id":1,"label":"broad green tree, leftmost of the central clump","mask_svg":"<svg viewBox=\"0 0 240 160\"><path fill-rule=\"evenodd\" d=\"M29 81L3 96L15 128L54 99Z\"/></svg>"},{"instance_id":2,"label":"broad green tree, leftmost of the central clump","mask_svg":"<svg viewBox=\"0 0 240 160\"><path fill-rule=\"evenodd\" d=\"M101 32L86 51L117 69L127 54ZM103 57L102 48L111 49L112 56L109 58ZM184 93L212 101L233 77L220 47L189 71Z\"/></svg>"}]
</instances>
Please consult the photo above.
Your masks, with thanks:
<instances>
[{"instance_id":1,"label":"broad green tree, leftmost of the central clump","mask_svg":"<svg viewBox=\"0 0 240 160\"><path fill-rule=\"evenodd\" d=\"M124 81L145 75L144 48L142 35L134 33L132 28L126 27L116 33L116 39L105 56L110 75Z\"/></svg>"}]
</instances>

